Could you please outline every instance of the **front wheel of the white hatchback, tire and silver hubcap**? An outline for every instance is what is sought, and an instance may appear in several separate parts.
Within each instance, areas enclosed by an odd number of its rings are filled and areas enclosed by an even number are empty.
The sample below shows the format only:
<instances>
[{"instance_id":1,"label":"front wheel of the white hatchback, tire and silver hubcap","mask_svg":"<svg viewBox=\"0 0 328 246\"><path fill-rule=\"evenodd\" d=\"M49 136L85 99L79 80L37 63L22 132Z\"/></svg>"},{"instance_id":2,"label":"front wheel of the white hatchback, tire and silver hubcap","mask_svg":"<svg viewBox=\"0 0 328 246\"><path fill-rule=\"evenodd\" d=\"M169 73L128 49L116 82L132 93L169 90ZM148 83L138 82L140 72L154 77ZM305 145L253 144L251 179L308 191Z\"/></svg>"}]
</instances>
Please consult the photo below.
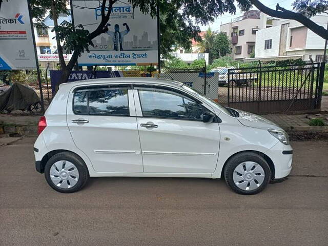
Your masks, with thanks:
<instances>
[{"instance_id":1,"label":"front wheel of the white hatchback, tire and silver hubcap","mask_svg":"<svg viewBox=\"0 0 328 246\"><path fill-rule=\"evenodd\" d=\"M253 152L244 152L228 160L224 179L235 192L253 195L261 192L269 183L270 167L264 158Z\"/></svg>"}]
</instances>

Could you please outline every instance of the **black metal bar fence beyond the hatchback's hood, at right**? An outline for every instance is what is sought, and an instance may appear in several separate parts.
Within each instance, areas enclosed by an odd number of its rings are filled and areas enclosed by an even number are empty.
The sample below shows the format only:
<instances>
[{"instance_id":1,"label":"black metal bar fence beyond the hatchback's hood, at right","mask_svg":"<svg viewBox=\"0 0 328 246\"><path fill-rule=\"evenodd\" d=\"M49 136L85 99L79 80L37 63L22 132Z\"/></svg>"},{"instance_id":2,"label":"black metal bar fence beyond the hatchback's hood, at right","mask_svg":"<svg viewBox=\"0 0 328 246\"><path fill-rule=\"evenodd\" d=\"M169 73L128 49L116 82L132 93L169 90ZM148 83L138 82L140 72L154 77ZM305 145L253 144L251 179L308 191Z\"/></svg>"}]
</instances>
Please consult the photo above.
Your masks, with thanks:
<instances>
[{"instance_id":1,"label":"black metal bar fence beyond the hatchback's hood, at right","mask_svg":"<svg viewBox=\"0 0 328 246\"><path fill-rule=\"evenodd\" d=\"M255 113L320 108L323 64L268 66L228 71L228 106ZM323 70L322 70L323 71Z\"/></svg>"}]
</instances>

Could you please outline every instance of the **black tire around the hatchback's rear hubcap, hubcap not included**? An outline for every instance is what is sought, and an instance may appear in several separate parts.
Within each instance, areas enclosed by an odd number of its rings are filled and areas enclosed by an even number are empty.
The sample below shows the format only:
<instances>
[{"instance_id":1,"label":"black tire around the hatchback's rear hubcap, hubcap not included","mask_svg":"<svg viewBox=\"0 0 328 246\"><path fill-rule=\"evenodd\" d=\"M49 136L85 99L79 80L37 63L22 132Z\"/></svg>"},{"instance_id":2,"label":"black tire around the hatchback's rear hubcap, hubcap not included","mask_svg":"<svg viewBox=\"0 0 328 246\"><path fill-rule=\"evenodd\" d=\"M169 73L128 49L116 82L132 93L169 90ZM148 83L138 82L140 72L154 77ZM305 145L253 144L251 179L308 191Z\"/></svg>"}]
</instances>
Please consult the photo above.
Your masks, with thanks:
<instances>
[{"instance_id":1,"label":"black tire around the hatchback's rear hubcap, hubcap not included","mask_svg":"<svg viewBox=\"0 0 328 246\"><path fill-rule=\"evenodd\" d=\"M50 168L52 167L52 165L55 162L61 161L61 160L72 162L78 170L78 175L79 175L78 181L71 188L63 189L63 188L57 187L51 180ZM46 166L45 166L45 177L48 182L48 185L52 189L54 189L58 192L61 192L61 193L73 193L73 192L79 191L86 185L86 183L89 179L89 172L88 172L86 163L79 156L77 156L76 154L71 153L71 152L60 152L60 153L57 153L54 156L52 156L47 161Z\"/></svg>"}]
</instances>

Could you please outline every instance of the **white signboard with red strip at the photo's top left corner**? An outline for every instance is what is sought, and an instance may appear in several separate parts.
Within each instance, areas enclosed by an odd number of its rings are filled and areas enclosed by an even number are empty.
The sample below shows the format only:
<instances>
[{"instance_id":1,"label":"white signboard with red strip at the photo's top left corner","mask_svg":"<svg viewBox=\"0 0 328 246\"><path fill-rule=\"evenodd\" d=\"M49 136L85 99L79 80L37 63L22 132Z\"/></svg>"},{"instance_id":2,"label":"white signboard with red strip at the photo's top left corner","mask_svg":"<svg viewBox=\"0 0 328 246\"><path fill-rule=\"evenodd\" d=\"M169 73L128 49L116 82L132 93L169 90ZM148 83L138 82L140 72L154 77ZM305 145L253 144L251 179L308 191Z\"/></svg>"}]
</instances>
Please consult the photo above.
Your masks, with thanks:
<instances>
[{"instance_id":1,"label":"white signboard with red strip at the photo's top left corner","mask_svg":"<svg viewBox=\"0 0 328 246\"><path fill-rule=\"evenodd\" d=\"M0 70L35 69L35 53L27 0L2 2Z\"/></svg>"}]
</instances>

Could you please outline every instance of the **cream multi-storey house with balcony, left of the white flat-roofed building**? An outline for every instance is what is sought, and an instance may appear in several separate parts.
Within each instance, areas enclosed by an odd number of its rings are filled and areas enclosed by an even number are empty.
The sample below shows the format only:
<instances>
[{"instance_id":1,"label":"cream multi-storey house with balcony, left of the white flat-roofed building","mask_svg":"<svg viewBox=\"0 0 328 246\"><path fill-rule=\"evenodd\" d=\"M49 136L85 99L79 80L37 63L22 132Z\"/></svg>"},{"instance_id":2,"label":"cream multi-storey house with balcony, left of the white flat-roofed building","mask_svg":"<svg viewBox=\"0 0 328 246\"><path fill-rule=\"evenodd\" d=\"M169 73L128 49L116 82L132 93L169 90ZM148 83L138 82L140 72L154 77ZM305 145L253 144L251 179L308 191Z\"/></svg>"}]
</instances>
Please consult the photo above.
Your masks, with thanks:
<instances>
[{"instance_id":1,"label":"cream multi-storey house with balcony, left of the white flat-roofed building","mask_svg":"<svg viewBox=\"0 0 328 246\"><path fill-rule=\"evenodd\" d=\"M279 19L267 16L259 10L250 10L220 26L231 40L231 55L236 60L250 58L255 52L256 33L263 28L277 25Z\"/></svg>"}]
</instances>

